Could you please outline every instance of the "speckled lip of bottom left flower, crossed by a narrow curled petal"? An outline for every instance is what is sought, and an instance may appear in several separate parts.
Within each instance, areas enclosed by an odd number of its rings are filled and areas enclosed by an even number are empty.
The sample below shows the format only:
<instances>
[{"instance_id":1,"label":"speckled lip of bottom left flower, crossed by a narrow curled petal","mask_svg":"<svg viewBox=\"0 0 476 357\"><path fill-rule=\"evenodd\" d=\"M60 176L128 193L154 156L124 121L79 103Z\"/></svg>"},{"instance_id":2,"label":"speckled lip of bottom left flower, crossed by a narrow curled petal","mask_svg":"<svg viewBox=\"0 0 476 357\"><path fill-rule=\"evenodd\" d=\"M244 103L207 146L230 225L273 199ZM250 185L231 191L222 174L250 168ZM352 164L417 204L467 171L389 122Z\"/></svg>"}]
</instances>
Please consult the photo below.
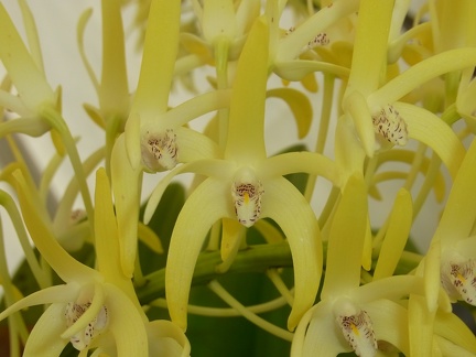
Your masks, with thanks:
<instances>
[{"instance_id":1,"label":"speckled lip of bottom left flower, crossed by a narrow curled petal","mask_svg":"<svg viewBox=\"0 0 476 357\"><path fill-rule=\"evenodd\" d=\"M66 326L73 326L77 320L89 309L90 301L85 304L71 302L66 305L65 317ZM93 338L98 336L108 323L108 312L106 306L101 306L99 313L94 317L87 326L71 337L71 343L77 350L83 350L88 347Z\"/></svg>"}]
</instances>

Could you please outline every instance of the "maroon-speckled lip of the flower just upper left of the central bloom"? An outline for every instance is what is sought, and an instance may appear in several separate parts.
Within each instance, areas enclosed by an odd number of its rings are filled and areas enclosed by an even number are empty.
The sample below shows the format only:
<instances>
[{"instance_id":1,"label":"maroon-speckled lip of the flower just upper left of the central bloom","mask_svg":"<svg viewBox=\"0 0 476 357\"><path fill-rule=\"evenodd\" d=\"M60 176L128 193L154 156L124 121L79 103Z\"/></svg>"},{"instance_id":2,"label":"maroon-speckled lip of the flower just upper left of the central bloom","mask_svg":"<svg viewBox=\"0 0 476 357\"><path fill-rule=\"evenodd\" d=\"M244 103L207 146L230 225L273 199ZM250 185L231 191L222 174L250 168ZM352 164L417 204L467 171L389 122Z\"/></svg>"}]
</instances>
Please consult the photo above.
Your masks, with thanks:
<instances>
[{"instance_id":1,"label":"maroon-speckled lip of the flower just upper left of the central bloom","mask_svg":"<svg viewBox=\"0 0 476 357\"><path fill-rule=\"evenodd\" d=\"M172 170L178 163L176 134L173 129L147 133L142 138L142 161L151 171Z\"/></svg>"}]
</instances>

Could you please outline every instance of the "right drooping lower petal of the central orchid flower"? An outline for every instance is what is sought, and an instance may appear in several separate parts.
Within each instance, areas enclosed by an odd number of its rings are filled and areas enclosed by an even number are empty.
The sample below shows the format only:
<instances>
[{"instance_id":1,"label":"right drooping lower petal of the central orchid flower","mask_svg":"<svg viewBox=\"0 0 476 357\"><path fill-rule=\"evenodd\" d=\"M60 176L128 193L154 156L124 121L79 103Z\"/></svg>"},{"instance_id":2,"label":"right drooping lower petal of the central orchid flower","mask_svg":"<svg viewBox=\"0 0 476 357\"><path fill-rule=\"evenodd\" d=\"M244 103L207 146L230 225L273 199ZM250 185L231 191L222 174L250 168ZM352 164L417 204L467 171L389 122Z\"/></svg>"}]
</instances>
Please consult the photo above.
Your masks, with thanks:
<instances>
[{"instance_id":1,"label":"right drooping lower petal of the central orchid flower","mask_svg":"<svg viewBox=\"0 0 476 357\"><path fill-rule=\"evenodd\" d=\"M321 231L314 212L288 180L263 182L261 217L272 218L290 244L294 266L294 303L288 328L294 329L317 294L323 266Z\"/></svg>"}]
</instances>

